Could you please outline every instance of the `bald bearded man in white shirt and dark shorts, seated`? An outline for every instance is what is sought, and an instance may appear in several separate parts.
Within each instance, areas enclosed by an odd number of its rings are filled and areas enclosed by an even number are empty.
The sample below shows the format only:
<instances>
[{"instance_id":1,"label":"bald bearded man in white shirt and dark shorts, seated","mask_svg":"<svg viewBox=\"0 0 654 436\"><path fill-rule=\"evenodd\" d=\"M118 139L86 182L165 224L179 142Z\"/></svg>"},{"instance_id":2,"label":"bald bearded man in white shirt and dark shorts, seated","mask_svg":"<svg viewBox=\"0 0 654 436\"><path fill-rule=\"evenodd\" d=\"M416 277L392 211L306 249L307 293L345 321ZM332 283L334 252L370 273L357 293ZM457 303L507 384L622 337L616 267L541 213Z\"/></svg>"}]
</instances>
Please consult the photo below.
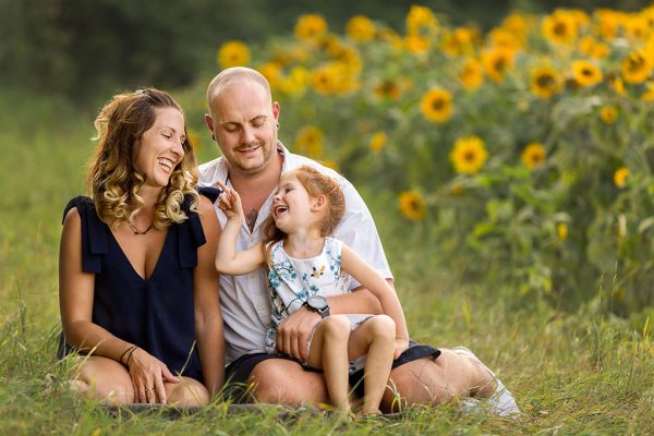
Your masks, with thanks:
<instances>
[{"instance_id":1,"label":"bald bearded man in white shirt and dark shorts, seated","mask_svg":"<svg viewBox=\"0 0 654 436\"><path fill-rule=\"evenodd\" d=\"M199 167L201 184L217 186L221 181L240 194L246 222L239 235L239 251L262 240L261 226L269 216L281 173L308 164L336 177L346 194L347 211L335 237L392 284L373 218L352 184L335 171L291 154L278 142L280 106L272 101L263 75L246 68L223 70L209 84L207 102L209 113L205 121L222 157ZM223 226L227 218L217 207L216 211ZM258 401L290 405L328 402L323 375L305 371L295 361L305 360L306 343L326 312L324 306L331 314L380 312L377 300L361 287L348 295L329 298L317 307L299 310L278 331L278 349L295 359L290 360L265 353L270 303L263 268L245 276L220 277L220 303L228 364L226 379L231 377L232 382L252 386ZM402 404L438 404L470 392L479 397L493 395L491 408L497 409L496 413L501 414L504 409L517 411L512 397L499 380L463 348L440 351L428 346L410 348L393 363L390 386L399 392ZM393 404L399 405L393 392L387 389L382 408L391 411Z\"/></svg>"}]
</instances>

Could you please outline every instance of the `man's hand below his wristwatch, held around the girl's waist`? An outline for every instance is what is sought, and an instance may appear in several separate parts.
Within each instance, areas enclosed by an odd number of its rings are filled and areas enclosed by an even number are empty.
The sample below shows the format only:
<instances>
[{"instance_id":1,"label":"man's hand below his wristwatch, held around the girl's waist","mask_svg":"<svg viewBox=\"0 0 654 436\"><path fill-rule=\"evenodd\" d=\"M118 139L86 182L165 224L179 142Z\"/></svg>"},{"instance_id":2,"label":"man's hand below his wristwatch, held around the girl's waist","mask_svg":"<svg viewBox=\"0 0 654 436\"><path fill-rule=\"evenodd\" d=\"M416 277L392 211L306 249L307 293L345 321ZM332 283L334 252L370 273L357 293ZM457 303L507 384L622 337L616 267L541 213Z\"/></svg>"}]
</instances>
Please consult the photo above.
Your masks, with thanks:
<instances>
[{"instance_id":1,"label":"man's hand below his wristwatch, held around the girl's waist","mask_svg":"<svg viewBox=\"0 0 654 436\"><path fill-rule=\"evenodd\" d=\"M308 359L308 340L320 319L320 314L306 307L293 312L281 322L277 329L276 350L300 362L306 362Z\"/></svg>"}]
</instances>

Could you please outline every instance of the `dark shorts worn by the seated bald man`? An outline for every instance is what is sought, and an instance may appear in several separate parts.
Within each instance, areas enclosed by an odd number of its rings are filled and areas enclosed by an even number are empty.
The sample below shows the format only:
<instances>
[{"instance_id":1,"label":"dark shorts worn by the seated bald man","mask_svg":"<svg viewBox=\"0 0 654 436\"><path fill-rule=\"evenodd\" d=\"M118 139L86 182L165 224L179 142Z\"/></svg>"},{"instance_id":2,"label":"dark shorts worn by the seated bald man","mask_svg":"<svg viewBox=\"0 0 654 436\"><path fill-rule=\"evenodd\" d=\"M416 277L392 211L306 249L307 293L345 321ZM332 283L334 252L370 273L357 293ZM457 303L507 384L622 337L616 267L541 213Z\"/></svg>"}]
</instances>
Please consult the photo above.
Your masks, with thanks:
<instances>
[{"instance_id":1,"label":"dark shorts worn by the seated bald man","mask_svg":"<svg viewBox=\"0 0 654 436\"><path fill-rule=\"evenodd\" d=\"M416 361L423 358L431 358L436 360L440 355L440 350L435 349L432 346L424 346L415 341L409 342L409 349L404 351L398 359L392 362L392 368L401 366L405 363ZM296 362L294 359L268 353L254 353L244 354L230 363L225 370L225 379L227 380L226 393L234 402L251 402L252 398L247 392L247 380L250 374L254 367L268 359L286 359ZM304 371L311 371L315 373L322 373L322 370L312 368L308 366L302 366ZM363 370L356 371L350 374L350 386L354 389L354 392L363 398L364 392L364 380Z\"/></svg>"}]
</instances>

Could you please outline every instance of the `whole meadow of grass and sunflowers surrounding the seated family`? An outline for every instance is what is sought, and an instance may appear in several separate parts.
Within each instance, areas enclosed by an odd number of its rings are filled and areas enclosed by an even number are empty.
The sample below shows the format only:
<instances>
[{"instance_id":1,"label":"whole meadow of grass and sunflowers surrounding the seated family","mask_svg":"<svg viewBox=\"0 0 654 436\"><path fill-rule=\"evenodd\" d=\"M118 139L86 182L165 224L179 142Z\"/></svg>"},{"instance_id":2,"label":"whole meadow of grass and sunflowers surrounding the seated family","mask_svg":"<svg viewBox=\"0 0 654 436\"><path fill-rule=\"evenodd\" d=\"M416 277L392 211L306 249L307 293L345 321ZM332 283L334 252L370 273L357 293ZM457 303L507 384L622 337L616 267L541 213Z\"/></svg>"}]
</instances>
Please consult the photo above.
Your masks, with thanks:
<instances>
[{"instance_id":1,"label":"whole meadow of grass and sunflowers surrounding the seated family","mask_svg":"<svg viewBox=\"0 0 654 436\"><path fill-rule=\"evenodd\" d=\"M520 420L414 407L344 423L215 401L175 420L73 397L55 359L58 243L84 192L93 112L0 94L0 433L653 434L654 10L513 14L486 34L414 7L402 33L320 16L221 46L262 71L280 140L334 166L368 204L412 337L464 344ZM201 161L204 87L173 90ZM48 384L46 375L57 376Z\"/></svg>"}]
</instances>

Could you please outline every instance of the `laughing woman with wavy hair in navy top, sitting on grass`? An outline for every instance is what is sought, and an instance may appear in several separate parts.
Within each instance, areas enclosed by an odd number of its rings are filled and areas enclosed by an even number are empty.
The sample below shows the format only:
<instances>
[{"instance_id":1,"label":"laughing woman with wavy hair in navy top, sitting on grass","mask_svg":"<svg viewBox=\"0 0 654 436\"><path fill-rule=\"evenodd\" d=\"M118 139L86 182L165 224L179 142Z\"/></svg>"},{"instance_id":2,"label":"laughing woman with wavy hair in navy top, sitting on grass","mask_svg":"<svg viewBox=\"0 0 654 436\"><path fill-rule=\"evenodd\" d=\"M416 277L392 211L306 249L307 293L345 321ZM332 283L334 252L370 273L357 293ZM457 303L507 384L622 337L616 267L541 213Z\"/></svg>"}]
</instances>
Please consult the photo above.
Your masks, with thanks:
<instances>
[{"instance_id":1,"label":"laughing woman with wavy hair in navy top, sitting on grass","mask_svg":"<svg viewBox=\"0 0 654 436\"><path fill-rule=\"evenodd\" d=\"M95 126L90 196L64 211L60 356L84 354L73 386L90 398L207 403L223 379L220 229L194 190L182 110L142 89L114 96Z\"/></svg>"}]
</instances>

